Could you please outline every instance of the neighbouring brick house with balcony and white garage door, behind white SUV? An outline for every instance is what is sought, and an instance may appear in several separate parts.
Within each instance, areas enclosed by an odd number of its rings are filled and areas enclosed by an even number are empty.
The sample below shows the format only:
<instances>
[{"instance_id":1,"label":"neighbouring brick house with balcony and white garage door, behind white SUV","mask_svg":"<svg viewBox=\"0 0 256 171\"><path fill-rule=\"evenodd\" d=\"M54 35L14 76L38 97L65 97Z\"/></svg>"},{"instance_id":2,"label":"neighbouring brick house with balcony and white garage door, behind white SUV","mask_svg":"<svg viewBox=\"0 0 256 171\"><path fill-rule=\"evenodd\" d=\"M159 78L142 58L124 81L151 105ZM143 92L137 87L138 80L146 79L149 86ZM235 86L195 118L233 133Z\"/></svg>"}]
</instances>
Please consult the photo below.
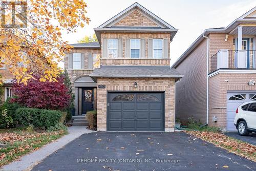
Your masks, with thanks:
<instances>
[{"instance_id":1,"label":"neighbouring brick house with balcony and white garage door, behind white SUV","mask_svg":"<svg viewBox=\"0 0 256 171\"><path fill-rule=\"evenodd\" d=\"M256 7L226 28L206 29L174 63L176 117L234 131L236 109L256 100Z\"/></svg>"}]
</instances>

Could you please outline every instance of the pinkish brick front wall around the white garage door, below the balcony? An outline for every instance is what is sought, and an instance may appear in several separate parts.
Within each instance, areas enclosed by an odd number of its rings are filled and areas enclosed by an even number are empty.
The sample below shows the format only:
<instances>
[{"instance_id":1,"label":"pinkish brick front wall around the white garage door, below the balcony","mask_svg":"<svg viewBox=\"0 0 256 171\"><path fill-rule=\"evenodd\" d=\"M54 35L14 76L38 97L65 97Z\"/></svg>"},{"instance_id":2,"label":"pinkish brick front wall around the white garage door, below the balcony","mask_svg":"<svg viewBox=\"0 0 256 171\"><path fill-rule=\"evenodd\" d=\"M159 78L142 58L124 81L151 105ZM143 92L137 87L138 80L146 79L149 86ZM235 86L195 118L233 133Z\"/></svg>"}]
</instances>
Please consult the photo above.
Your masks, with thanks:
<instances>
[{"instance_id":1,"label":"pinkish brick front wall around the white garage door, below the balcony","mask_svg":"<svg viewBox=\"0 0 256 171\"><path fill-rule=\"evenodd\" d=\"M256 73L219 73L209 78L209 125L226 129L227 92L256 91L248 86L248 81L256 78ZM226 81L228 80L228 82ZM213 122L212 116L218 121Z\"/></svg>"}]
</instances>

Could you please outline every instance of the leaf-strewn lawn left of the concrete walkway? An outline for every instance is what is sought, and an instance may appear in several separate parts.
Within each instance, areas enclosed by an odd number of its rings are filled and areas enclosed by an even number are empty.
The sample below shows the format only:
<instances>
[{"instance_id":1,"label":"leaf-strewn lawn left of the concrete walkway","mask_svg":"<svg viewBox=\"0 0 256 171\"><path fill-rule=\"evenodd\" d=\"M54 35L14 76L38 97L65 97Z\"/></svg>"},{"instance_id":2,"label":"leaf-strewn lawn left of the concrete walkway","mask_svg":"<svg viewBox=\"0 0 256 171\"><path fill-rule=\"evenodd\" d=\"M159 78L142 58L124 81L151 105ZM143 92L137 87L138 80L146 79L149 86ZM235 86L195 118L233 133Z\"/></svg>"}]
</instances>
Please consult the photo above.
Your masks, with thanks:
<instances>
[{"instance_id":1,"label":"leaf-strewn lawn left of the concrete walkway","mask_svg":"<svg viewBox=\"0 0 256 171\"><path fill-rule=\"evenodd\" d=\"M26 129L0 130L0 166L33 152L65 134L67 134L65 130L55 132L35 132Z\"/></svg>"}]
</instances>

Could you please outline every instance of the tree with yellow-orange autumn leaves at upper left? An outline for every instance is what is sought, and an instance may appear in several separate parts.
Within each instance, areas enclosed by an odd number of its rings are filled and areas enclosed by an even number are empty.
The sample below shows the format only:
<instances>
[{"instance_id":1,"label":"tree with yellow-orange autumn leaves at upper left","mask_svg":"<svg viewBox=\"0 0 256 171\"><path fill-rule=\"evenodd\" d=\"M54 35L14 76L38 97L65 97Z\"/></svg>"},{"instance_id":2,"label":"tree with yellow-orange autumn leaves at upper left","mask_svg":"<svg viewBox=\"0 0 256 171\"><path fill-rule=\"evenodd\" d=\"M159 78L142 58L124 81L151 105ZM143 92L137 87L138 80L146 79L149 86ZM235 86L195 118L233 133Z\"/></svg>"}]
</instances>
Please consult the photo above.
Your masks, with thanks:
<instances>
[{"instance_id":1,"label":"tree with yellow-orange autumn leaves at upper left","mask_svg":"<svg viewBox=\"0 0 256 171\"><path fill-rule=\"evenodd\" d=\"M40 81L56 81L58 62L72 48L61 31L74 33L89 24L86 7L83 0L1 1L0 67L9 66L17 82L26 84L33 74L39 74Z\"/></svg>"}]
</instances>

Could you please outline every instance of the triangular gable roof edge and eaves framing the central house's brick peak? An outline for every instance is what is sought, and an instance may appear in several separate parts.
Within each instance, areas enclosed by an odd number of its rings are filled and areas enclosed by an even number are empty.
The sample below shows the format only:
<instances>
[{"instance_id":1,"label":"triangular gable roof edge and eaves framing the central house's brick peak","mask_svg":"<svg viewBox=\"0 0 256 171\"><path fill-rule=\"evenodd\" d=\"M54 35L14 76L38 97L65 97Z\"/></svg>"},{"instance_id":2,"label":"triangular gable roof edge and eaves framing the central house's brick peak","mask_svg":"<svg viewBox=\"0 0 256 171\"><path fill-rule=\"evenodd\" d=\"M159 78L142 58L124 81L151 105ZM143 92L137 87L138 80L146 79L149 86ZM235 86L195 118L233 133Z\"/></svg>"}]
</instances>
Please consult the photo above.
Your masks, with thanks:
<instances>
[{"instance_id":1,"label":"triangular gable roof edge and eaves framing the central house's brick peak","mask_svg":"<svg viewBox=\"0 0 256 171\"><path fill-rule=\"evenodd\" d=\"M130 15L132 12L137 10L140 12L143 16L150 19L153 23L156 24L156 27L144 27L144 26L132 26L132 27L125 27L125 26L114 26L116 23L118 23L121 19L124 17ZM99 27L94 29L97 38L100 40L100 33L101 32L164 32L164 33L170 33L170 39L172 40L175 36L176 32L178 31L173 26L166 23L164 20L159 18L157 15L153 14L151 11L147 10L143 6L141 6L139 3L134 3L130 7L124 9L114 17L110 18L108 21L100 25Z\"/></svg>"}]
</instances>

